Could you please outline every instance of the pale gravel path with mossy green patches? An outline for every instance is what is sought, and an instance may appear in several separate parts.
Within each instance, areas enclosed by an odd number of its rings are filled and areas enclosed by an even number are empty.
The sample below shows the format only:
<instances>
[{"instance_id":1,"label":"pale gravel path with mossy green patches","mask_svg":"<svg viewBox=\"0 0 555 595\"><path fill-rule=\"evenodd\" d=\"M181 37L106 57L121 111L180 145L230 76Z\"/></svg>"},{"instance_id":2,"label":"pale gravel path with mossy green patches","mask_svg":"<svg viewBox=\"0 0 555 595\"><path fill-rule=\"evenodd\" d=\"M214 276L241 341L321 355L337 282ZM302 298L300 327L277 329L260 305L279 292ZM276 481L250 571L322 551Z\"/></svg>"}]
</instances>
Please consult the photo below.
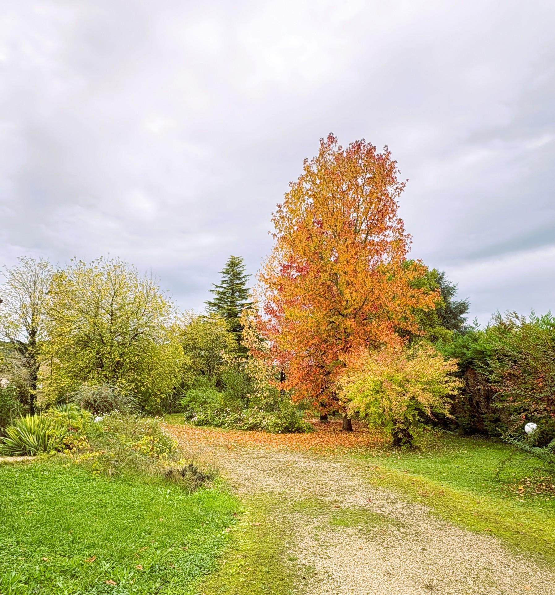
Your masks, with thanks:
<instances>
[{"instance_id":1,"label":"pale gravel path with mossy green patches","mask_svg":"<svg viewBox=\"0 0 555 595\"><path fill-rule=\"evenodd\" d=\"M308 595L555 593L555 574L493 536L372 486L363 464L307 452L205 447L239 496L266 493L312 569ZM291 526L291 525L289 525Z\"/></svg>"}]
</instances>

